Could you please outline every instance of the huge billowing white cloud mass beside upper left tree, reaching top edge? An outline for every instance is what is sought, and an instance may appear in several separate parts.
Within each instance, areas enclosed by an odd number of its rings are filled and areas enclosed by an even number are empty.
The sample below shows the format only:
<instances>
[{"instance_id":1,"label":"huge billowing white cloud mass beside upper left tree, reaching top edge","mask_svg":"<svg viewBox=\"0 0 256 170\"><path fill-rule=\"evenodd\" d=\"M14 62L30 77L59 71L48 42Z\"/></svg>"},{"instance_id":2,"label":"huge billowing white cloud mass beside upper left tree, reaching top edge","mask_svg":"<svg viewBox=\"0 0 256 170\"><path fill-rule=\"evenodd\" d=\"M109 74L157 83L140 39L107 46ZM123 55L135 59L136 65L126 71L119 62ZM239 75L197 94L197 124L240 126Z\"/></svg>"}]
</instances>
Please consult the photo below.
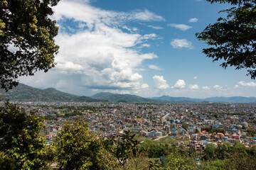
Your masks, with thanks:
<instances>
[{"instance_id":1,"label":"huge billowing white cloud mass beside upper left tree, reaching top edge","mask_svg":"<svg viewBox=\"0 0 256 170\"><path fill-rule=\"evenodd\" d=\"M157 56L143 53L137 47L150 47L146 41L154 40L157 35L134 33L136 28L129 28L127 23L164 21L163 17L146 9L127 13L107 11L80 0L60 1L53 9L53 19L60 28L55 38L60 46L55 57L57 65L51 70L55 72L52 74L55 79L66 77L87 89L138 90L146 87L137 70L144 60ZM130 33L125 33L124 29ZM47 83L50 79L44 81ZM58 86L69 86L63 82Z\"/></svg>"}]
</instances>

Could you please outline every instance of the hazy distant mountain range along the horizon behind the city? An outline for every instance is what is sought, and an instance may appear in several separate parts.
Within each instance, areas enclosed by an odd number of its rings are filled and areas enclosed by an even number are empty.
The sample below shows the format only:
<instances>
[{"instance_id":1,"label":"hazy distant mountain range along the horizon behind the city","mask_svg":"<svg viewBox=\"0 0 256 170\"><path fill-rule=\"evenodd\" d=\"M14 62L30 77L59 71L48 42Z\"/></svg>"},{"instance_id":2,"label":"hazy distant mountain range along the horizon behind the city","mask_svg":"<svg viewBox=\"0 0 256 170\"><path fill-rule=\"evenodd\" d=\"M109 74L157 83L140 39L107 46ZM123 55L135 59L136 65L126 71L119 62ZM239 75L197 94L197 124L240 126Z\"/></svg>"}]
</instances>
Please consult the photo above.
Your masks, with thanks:
<instances>
[{"instance_id":1,"label":"hazy distant mountain range along the horizon behind the city","mask_svg":"<svg viewBox=\"0 0 256 170\"><path fill-rule=\"evenodd\" d=\"M132 103L162 103L162 102L178 102L178 103L256 103L255 97L211 97L211 98L186 98L186 97L171 97L161 96L154 98L143 98L141 96L130 94L112 94L99 93L93 96L76 96L73 94L64 93L53 88L36 89L25 84L18 84L14 89L5 92L0 89L0 96L9 98L10 101L78 101L78 102L132 102Z\"/></svg>"}]
</instances>

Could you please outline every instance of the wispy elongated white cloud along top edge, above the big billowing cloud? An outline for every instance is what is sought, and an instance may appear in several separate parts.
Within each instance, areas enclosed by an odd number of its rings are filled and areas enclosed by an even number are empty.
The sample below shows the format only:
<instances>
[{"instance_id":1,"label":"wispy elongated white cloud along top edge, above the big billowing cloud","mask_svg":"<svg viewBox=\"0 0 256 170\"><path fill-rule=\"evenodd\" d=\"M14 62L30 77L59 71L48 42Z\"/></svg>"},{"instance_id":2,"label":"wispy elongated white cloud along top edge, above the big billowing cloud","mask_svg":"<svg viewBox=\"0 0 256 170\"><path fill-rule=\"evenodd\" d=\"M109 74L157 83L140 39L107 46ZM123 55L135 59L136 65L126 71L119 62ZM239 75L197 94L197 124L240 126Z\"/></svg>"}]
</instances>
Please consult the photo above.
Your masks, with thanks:
<instances>
[{"instance_id":1,"label":"wispy elongated white cloud along top edge, above the big billowing cloud","mask_svg":"<svg viewBox=\"0 0 256 170\"><path fill-rule=\"evenodd\" d=\"M55 20L63 18L74 19L75 21L85 22L92 29L97 23L105 23L107 26L120 25L127 21L165 21L162 16L158 16L145 9L125 12L107 11L95 8L85 1L60 1L54 8Z\"/></svg>"}]
</instances>

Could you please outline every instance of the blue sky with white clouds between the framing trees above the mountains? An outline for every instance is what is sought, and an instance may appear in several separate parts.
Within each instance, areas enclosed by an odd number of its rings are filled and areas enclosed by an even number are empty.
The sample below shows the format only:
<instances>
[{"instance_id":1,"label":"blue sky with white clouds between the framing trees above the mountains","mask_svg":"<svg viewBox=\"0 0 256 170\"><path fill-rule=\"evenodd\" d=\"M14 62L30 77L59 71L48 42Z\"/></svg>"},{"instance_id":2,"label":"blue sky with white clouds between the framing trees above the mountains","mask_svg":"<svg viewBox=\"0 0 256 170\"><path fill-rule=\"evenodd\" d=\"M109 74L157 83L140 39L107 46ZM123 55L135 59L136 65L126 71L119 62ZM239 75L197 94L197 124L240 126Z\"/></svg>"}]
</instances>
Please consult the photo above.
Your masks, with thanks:
<instances>
[{"instance_id":1,"label":"blue sky with white clouds between the framing trees above the mountains","mask_svg":"<svg viewBox=\"0 0 256 170\"><path fill-rule=\"evenodd\" d=\"M59 26L57 65L20 81L81 96L256 96L246 70L211 62L195 37L228 7L203 0L60 1L51 17Z\"/></svg>"}]
</instances>

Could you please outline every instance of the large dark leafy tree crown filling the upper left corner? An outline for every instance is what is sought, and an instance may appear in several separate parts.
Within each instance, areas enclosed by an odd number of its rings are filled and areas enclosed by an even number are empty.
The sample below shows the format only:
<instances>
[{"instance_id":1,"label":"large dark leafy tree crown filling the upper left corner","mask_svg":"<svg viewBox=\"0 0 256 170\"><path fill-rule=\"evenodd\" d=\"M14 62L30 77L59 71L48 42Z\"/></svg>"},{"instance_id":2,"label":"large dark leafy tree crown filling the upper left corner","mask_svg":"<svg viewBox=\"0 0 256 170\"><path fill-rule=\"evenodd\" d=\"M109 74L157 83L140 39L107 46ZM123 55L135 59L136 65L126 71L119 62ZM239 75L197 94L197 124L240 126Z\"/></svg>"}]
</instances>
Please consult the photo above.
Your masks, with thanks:
<instances>
[{"instance_id":1,"label":"large dark leafy tree crown filling the upper left corner","mask_svg":"<svg viewBox=\"0 0 256 170\"><path fill-rule=\"evenodd\" d=\"M55 66L58 52L53 38L58 33L52 6L60 0L0 1L0 84L1 89L18 85L20 76Z\"/></svg>"}]
</instances>

